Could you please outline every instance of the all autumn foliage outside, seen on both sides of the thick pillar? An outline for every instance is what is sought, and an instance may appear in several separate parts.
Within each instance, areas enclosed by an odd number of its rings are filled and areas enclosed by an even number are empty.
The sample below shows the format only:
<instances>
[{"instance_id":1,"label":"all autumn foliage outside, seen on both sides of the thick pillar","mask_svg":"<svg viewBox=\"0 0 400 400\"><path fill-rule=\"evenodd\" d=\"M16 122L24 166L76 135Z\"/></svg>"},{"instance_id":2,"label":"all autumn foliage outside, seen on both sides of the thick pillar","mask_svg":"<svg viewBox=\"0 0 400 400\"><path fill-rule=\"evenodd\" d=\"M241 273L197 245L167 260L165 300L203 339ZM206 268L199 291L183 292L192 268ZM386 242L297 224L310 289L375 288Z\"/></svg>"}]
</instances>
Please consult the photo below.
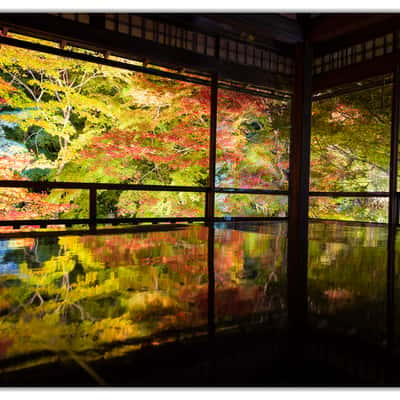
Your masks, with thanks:
<instances>
[{"instance_id":1,"label":"all autumn foliage outside, seen on both sides of the thick pillar","mask_svg":"<svg viewBox=\"0 0 400 400\"><path fill-rule=\"evenodd\" d=\"M0 49L0 79L1 129L27 150L24 161L9 163L9 179L208 185L208 87L9 46ZM390 91L314 103L311 190L388 190ZM286 190L289 137L288 103L219 90L217 186ZM4 204L5 215L21 196ZM83 194L41 200L69 205L57 217L87 216ZM25 214L40 213L37 204ZM102 216L196 216L203 207L189 194L98 196ZM220 196L217 214L283 216L286 207L279 198ZM382 222L386 214L378 200L315 200L310 208L311 217Z\"/></svg>"}]
</instances>

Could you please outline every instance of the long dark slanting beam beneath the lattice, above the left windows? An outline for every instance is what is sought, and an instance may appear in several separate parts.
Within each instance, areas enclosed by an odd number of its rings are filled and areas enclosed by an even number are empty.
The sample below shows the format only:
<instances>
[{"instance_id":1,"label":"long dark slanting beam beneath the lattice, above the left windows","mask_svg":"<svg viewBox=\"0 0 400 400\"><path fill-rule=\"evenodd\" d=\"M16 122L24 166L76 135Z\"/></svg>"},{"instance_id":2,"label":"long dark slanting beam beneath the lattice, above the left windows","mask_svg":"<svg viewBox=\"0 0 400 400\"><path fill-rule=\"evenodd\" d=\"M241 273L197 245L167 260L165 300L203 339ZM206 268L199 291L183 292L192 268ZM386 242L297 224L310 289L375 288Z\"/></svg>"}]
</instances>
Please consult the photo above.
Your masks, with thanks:
<instances>
[{"instance_id":1,"label":"long dark slanting beam beneath the lattice, above the left windows","mask_svg":"<svg viewBox=\"0 0 400 400\"><path fill-rule=\"evenodd\" d=\"M110 32L49 14L3 13L0 14L0 29L2 27L8 27L11 31L14 28L16 32L47 40L60 42L63 40L77 47L99 52L109 51L128 59L145 60L148 64L158 64L173 69L185 68L208 74L218 72L221 79L267 86L277 90L291 90L291 78L282 74L224 62L215 57Z\"/></svg>"}]
</instances>

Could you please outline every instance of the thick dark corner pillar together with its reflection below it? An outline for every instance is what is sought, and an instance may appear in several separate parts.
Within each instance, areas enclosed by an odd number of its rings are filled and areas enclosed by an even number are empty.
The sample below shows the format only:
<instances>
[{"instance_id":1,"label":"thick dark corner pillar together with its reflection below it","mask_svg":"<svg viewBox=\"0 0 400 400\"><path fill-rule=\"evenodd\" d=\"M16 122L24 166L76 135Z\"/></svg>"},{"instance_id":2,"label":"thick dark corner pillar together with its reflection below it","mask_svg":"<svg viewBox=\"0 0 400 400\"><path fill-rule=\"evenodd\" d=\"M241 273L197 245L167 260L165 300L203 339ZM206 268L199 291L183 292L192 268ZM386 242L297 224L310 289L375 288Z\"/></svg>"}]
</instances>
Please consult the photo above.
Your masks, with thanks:
<instances>
[{"instance_id":1,"label":"thick dark corner pillar together with its reflection below it","mask_svg":"<svg viewBox=\"0 0 400 400\"><path fill-rule=\"evenodd\" d=\"M296 48L292 101L288 218L288 319L290 333L301 337L307 325L308 197L311 141L312 49Z\"/></svg>"}]
</instances>

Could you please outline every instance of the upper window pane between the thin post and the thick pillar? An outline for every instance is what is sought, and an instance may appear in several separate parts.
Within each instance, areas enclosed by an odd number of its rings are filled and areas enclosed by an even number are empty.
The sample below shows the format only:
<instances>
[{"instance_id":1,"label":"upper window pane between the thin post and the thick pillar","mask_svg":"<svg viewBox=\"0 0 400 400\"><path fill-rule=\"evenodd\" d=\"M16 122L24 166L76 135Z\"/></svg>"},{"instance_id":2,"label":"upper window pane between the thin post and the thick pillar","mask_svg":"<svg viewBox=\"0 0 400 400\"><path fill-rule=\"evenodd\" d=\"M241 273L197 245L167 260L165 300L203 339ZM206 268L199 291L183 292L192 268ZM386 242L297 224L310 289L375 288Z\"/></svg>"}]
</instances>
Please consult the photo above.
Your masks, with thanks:
<instances>
[{"instance_id":1,"label":"upper window pane between the thin post and the thick pillar","mask_svg":"<svg viewBox=\"0 0 400 400\"><path fill-rule=\"evenodd\" d=\"M218 90L216 185L286 190L289 104Z\"/></svg>"}]
</instances>

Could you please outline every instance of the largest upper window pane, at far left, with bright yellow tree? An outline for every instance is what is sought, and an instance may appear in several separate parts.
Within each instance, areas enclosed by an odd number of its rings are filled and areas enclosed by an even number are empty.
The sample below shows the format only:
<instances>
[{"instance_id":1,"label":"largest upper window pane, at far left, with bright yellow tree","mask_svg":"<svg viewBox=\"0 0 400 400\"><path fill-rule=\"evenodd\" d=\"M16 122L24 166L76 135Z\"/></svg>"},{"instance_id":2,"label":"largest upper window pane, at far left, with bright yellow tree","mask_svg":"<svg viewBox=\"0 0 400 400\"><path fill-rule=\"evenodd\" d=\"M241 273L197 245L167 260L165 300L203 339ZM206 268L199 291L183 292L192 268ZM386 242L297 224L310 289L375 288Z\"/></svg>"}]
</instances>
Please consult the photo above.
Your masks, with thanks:
<instances>
[{"instance_id":1,"label":"largest upper window pane, at far left, with bright yellow tree","mask_svg":"<svg viewBox=\"0 0 400 400\"><path fill-rule=\"evenodd\" d=\"M0 179L205 186L209 110L209 87L3 45Z\"/></svg>"}]
</instances>

